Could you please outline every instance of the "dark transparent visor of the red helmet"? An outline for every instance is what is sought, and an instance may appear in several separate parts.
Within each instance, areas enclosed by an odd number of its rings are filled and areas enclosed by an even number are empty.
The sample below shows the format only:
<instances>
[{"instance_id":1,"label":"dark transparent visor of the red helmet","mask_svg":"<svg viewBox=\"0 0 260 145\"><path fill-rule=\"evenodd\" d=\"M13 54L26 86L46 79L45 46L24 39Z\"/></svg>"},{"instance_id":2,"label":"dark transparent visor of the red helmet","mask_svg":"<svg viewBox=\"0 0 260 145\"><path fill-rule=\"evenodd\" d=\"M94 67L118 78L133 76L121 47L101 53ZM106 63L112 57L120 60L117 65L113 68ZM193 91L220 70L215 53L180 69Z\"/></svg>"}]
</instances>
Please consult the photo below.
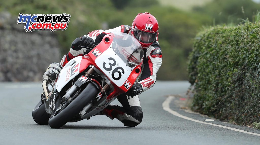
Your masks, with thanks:
<instances>
[{"instance_id":1,"label":"dark transparent visor of the red helmet","mask_svg":"<svg viewBox=\"0 0 260 145\"><path fill-rule=\"evenodd\" d=\"M134 31L134 37L143 43L152 43L156 38L157 33L147 33L140 30Z\"/></svg>"}]
</instances>

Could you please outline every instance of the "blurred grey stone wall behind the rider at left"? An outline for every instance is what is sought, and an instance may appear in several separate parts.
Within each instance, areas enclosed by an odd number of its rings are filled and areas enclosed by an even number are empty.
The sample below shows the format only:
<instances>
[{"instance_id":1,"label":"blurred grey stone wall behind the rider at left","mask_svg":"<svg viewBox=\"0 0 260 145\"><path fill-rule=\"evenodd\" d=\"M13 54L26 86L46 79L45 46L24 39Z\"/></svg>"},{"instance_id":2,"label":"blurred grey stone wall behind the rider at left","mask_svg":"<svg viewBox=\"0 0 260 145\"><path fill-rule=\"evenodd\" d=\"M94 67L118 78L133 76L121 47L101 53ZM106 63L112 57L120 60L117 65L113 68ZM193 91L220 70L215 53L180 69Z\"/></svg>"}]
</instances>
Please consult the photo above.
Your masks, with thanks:
<instances>
[{"instance_id":1,"label":"blurred grey stone wall behind the rider at left","mask_svg":"<svg viewBox=\"0 0 260 145\"><path fill-rule=\"evenodd\" d=\"M55 32L24 30L17 17L0 13L0 81L41 81L52 62L60 62Z\"/></svg>"}]
</instances>

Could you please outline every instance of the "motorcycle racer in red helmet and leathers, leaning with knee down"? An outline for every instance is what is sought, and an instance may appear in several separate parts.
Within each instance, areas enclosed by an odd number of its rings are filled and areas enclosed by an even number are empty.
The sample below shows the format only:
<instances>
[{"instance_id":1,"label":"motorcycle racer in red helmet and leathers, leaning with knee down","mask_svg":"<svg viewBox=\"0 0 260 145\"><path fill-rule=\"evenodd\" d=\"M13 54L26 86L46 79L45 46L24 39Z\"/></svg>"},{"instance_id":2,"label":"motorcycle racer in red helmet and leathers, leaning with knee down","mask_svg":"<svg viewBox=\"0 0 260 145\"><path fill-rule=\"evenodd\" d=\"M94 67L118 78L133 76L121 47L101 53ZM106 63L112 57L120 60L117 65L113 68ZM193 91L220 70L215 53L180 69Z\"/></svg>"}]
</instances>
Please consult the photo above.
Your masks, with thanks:
<instances>
[{"instance_id":1,"label":"motorcycle racer in red helmet and leathers, leaning with knee down","mask_svg":"<svg viewBox=\"0 0 260 145\"><path fill-rule=\"evenodd\" d=\"M142 122L143 112L139 101L139 96L154 85L156 74L162 62L161 48L158 42L158 22L150 13L139 13L133 20L132 27L121 25L109 30L95 30L72 42L69 52L63 56L59 66L47 72L47 76L55 80L61 69L71 59L83 56L90 50L81 46L94 48L103 37L110 32L128 33L135 37L144 50L144 61L141 74L135 84L126 92L117 97L122 106L108 105L99 115L106 115L110 119L118 119L125 126L134 127ZM128 96L128 97L127 97ZM130 99L129 96L132 98Z\"/></svg>"}]
</instances>

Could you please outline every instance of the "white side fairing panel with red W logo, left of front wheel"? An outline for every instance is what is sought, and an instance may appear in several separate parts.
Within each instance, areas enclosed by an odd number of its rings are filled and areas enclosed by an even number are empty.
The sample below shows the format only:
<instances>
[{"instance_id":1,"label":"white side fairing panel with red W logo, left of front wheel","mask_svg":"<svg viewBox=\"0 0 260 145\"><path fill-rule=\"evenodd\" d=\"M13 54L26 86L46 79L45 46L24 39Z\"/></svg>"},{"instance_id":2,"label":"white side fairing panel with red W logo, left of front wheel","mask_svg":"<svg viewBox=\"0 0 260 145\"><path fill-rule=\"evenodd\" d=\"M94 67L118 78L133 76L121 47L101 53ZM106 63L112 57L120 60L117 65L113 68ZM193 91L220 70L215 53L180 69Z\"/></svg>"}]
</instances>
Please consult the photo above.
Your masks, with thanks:
<instances>
[{"instance_id":1,"label":"white side fairing panel with red W logo, left of front wheel","mask_svg":"<svg viewBox=\"0 0 260 145\"><path fill-rule=\"evenodd\" d=\"M61 89L70 81L72 80L76 75L78 75L80 72L80 62L82 58L81 56L75 57L74 59L70 60L61 70L56 87L57 91L60 92ZM76 61L76 62L75 62Z\"/></svg>"}]
</instances>

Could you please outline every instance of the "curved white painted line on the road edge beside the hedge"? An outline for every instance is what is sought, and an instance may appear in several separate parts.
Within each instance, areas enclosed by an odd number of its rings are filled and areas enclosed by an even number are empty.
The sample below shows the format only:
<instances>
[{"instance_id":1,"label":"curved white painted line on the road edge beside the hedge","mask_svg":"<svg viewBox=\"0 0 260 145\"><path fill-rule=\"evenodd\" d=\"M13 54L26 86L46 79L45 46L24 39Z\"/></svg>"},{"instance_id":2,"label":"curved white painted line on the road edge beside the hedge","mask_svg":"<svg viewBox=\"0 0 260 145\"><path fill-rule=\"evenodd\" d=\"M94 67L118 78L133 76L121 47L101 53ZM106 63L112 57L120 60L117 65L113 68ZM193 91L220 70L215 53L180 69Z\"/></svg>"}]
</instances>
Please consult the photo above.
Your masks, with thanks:
<instances>
[{"instance_id":1,"label":"curved white painted line on the road edge beside the hedge","mask_svg":"<svg viewBox=\"0 0 260 145\"><path fill-rule=\"evenodd\" d=\"M187 120L190 120L190 121L194 121L194 122L198 122L198 123L203 123L203 124L218 126L218 127L222 127L222 128L226 128L226 129L230 129L230 130L242 132L242 133L247 133L247 134L252 134L252 135L260 136L260 134L258 134L258 133L247 132L247 131L245 131L245 130L240 130L240 129L236 129L236 128L232 128L232 127L227 127L227 126L223 126L223 125L216 125L216 124L212 124L212 123L208 123L208 122L203 122L203 121L199 121L199 120L196 120L196 119L192 119L192 118L183 116L183 115L179 114L178 112L173 111L173 110L170 109L170 103L171 103L171 101L172 101L173 98L174 98L173 96L167 97L167 99L162 103L162 107L163 107L163 109L164 109L165 111L168 111L169 113L171 113L171 114L173 114L173 115L175 115L175 116L177 116L177 117L180 117L180 118L183 118L183 119L187 119Z\"/></svg>"}]
</instances>

